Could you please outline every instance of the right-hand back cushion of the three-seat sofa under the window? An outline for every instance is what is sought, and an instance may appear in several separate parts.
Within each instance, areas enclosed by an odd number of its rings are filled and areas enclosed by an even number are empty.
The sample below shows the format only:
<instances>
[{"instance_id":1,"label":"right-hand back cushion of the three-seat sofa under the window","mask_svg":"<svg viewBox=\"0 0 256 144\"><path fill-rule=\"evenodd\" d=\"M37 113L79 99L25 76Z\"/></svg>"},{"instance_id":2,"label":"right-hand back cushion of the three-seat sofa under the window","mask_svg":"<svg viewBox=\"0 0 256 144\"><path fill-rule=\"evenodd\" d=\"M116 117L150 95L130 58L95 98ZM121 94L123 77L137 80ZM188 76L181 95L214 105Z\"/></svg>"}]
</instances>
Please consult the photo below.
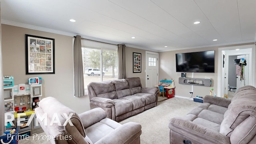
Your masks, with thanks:
<instances>
[{"instance_id":1,"label":"right-hand back cushion of the three-seat sofa under the window","mask_svg":"<svg viewBox=\"0 0 256 144\"><path fill-rule=\"evenodd\" d=\"M134 77L134 78L126 78L131 94L136 94L141 92L142 85L140 83L140 78L139 77Z\"/></svg>"}]
</instances>

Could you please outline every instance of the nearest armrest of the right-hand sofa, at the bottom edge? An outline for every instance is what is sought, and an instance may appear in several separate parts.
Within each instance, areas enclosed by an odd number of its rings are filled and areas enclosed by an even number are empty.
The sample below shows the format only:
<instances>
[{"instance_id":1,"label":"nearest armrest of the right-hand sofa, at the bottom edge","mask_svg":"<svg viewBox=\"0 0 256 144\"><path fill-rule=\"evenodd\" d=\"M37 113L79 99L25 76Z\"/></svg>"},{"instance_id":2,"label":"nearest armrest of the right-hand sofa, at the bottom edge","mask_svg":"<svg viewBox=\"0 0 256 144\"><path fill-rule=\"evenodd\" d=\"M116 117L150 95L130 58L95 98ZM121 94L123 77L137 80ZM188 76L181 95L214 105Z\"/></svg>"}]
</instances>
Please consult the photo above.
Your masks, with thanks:
<instances>
[{"instance_id":1,"label":"nearest armrest of the right-hand sofa, at the bottom edge","mask_svg":"<svg viewBox=\"0 0 256 144\"><path fill-rule=\"evenodd\" d=\"M188 138L188 140L193 140L198 143L230 144L230 138L228 136L199 124L194 124L189 120L172 118L168 127L171 131ZM179 140L177 139L176 142L178 143L178 141ZM183 140L180 141L182 142Z\"/></svg>"}]
</instances>

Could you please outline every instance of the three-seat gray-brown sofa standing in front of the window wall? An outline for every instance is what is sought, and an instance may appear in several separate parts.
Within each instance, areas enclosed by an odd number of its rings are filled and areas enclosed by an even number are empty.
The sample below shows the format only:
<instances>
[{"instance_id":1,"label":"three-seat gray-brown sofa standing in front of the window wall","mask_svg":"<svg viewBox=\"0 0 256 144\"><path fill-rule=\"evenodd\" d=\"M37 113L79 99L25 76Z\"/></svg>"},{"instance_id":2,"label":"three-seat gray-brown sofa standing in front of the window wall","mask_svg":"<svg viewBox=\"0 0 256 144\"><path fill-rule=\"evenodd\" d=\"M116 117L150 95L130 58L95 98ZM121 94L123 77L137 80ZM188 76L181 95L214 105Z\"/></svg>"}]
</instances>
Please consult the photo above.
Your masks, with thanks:
<instances>
[{"instance_id":1,"label":"three-seat gray-brown sofa standing in front of the window wall","mask_svg":"<svg viewBox=\"0 0 256 144\"><path fill-rule=\"evenodd\" d=\"M88 84L90 108L102 108L117 122L157 105L158 89L142 88L140 78Z\"/></svg>"}]
</instances>

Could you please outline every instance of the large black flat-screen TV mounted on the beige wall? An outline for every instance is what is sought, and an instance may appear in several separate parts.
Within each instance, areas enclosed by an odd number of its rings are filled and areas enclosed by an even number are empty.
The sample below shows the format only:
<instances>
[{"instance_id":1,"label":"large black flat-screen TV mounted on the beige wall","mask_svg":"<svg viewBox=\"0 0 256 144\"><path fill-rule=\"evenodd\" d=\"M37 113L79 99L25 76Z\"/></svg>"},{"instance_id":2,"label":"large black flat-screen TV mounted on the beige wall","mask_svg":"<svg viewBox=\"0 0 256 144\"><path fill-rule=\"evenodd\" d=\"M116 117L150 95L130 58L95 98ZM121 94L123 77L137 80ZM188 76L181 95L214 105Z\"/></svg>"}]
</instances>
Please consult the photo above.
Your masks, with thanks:
<instances>
[{"instance_id":1,"label":"large black flat-screen TV mounted on the beige wall","mask_svg":"<svg viewBox=\"0 0 256 144\"><path fill-rule=\"evenodd\" d=\"M214 73L214 50L176 54L176 72Z\"/></svg>"}]
</instances>

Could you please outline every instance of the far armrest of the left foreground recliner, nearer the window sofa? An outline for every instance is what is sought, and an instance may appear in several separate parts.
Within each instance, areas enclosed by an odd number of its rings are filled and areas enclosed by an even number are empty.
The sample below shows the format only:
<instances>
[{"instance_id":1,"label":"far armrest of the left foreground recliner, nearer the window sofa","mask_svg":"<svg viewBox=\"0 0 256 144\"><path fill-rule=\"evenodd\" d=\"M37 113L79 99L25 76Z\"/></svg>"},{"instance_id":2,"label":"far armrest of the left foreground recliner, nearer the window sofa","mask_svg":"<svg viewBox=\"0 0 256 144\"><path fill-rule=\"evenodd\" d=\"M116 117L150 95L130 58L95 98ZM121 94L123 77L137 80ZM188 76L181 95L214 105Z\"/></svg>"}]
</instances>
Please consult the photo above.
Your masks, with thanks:
<instances>
[{"instance_id":1,"label":"far armrest of the left foreground recliner, nearer the window sofa","mask_svg":"<svg viewBox=\"0 0 256 144\"><path fill-rule=\"evenodd\" d=\"M84 128L100 122L100 120L106 118L106 112L102 108L94 108L79 114Z\"/></svg>"}]
</instances>

